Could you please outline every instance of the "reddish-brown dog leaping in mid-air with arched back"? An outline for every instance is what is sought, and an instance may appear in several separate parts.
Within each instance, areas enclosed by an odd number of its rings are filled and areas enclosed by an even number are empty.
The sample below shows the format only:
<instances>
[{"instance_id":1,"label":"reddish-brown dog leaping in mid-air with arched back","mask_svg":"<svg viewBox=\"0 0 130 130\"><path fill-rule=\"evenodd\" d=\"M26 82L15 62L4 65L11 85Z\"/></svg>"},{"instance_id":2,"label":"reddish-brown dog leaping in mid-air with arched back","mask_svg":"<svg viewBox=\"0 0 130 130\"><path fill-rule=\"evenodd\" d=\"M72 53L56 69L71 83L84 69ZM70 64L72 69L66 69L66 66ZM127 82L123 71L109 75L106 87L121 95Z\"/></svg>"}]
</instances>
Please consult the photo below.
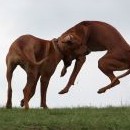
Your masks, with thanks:
<instances>
[{"instance_id":1,"label":"reddish-brown dog leaping in mid-air with arched back","mask_svg":"<svg viewBox=\"0 0 130 130\"><path fill-rule=\"evenodd\" d=\"M85 55L93 51L105 51L107 53L98 61L98 68L109 77L111 83L98 90L104 93L120 83L119 79L130 74L130 46L122 35L111 25L99 21L83 21L58 38L58 44L64 54L64 68L61 76L64 76L66 69L76 59L74 70L66 87L59 93L69 91L74 84L83 63ZM120 76L115 76L113 71L126 70Z\"/></svg>"}]
</instances>

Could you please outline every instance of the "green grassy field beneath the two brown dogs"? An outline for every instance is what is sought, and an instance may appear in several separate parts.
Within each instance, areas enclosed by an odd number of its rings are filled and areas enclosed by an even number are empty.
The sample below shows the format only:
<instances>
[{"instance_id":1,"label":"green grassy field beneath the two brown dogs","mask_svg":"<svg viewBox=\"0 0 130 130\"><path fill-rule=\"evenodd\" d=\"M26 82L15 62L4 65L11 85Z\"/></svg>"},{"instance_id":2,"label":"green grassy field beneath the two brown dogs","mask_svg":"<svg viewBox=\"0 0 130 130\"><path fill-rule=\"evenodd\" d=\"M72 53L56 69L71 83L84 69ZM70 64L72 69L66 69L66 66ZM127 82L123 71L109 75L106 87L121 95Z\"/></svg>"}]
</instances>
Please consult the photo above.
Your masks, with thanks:
<instances>
[{"instance_id":1,"label":"green grassy field beneath the two brown dogs","mask_svg":"<svg viewBox=\"0 0 130 130\"><path fill-rule=\"evenodd\" d=\"M0 130L130 130L130 107L0 108Z\"/></svg>"}]
</instances>

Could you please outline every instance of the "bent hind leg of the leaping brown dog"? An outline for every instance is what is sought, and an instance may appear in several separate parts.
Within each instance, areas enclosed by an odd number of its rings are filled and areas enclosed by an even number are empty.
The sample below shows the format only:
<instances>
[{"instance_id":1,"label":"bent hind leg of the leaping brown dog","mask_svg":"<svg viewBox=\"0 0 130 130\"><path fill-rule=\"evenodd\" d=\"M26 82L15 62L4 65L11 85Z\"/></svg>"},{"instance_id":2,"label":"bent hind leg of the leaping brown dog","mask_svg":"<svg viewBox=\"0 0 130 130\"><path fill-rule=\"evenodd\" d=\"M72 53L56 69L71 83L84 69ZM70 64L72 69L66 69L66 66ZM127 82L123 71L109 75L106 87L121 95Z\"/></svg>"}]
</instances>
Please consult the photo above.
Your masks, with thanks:
<instances>
[{"instance_id":1,"label":"bent hind leg of the leaping brown dog","mask_svg":"<svg viewBox=\"0 0 130 130\"><path fill-rule=\"evenodd\" d=\"M127 71L125 74L122 74L116 77L113 74L113 71L125 70L125 69L128 69L129 66L125 62L122 62L121 60L117 60L113 58L113 55L110 55L110 54L105 55L99 60L98 67L111 80L111 83L99 89L98 93L104 93L107 89L110 89L118 85L120 83L119 78L122 78L130 73L129 71Z\"/></svg>"}]
</instances>

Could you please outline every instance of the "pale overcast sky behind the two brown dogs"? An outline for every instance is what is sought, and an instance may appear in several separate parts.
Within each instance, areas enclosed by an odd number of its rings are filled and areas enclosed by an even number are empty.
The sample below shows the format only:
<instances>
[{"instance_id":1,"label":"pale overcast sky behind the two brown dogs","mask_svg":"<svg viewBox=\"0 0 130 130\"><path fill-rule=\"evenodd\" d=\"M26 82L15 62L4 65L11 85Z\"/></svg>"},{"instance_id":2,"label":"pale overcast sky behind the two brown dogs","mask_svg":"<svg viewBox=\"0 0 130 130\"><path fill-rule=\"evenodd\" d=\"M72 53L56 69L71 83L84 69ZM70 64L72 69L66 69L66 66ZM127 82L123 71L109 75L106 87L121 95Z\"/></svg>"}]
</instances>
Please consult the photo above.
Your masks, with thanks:
<instances>
[{"instance_id":1,"label":"pale overcast sky behind the two brown dogs","mask_svg":"<svg viewBox=\"0 0 130 130\"><path fill-rule=\"evenodd\" d=\"M7 99L5 57L12 42L23 34L32 34L43 39L59 37L64 31L83 20L105 21L116 27L130 43L130 1L129 0L0 0L0 106ZM105 52L91 53L69 93L58 95L65 87L73 65L65 77L60 78L63 63L50 80L47 104L54 107L77 107L108 105L130 105L130 76L121 79L121 84L97 94L97 90L110 83L98 69L98 59ZM116 73L119 75L120 73ZM13 75L13 106L19 106L23 98L22 89L26 74L17 67ZM39 107L39 83L31 107Z\"/></svg>"}]
</instances>

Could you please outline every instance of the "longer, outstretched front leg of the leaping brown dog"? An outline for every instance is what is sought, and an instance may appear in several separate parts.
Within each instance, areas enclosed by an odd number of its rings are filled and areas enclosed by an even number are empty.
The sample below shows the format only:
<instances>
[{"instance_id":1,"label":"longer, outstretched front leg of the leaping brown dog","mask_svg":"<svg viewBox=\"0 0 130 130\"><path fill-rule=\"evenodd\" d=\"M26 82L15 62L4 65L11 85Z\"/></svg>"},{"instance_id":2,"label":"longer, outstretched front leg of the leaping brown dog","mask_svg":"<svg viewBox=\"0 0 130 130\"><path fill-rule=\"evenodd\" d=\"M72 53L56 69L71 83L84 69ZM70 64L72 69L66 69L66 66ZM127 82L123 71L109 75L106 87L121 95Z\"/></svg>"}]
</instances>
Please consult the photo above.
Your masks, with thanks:
<instances>
[{"instance_id":1,"label":"longer, outstretched front leg of the leaping brown dog","mask_svg":"<svg viewBox=\"0 0 130 130\"><path fill-rule=\"evenodd\" d=\"M59 92L59 94L67 93L69 91L71 85L74 85L75 79L76 79L82 65L84 64L85 60L86 60L85 56L78 57L78 59L76 59L75 66L74 66L73 72L69 78L69 81L68 81L66 87L63 90L61 90Z\"/></svg>"}]
</instances>

